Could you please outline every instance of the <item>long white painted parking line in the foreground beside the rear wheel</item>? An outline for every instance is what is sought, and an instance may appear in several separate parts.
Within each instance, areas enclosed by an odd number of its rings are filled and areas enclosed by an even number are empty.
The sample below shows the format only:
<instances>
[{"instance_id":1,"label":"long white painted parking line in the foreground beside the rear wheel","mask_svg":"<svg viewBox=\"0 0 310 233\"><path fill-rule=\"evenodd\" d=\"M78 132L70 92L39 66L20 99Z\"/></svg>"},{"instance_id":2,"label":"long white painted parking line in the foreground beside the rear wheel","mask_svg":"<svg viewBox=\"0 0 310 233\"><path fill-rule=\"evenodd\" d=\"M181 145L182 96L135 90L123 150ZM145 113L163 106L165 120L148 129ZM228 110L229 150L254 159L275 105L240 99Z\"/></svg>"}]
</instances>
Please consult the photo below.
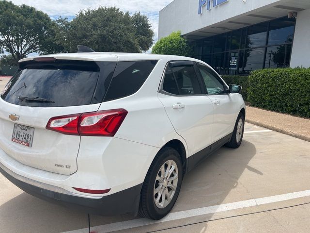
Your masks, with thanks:
<instances>
[{"instance_id":1,"label":"long white painted parking line in the foreground beside the rear wheel","mask_svg":"<svg viewBox=\"0 0 310 233\"><path fill-rule=\"evenodd\" d=\"M158 221L153 221L147 218L139 218L139 219L133 219L133 220L128 220L124 222L115 222L115 223L105 224L101 226L96 226L96 227L92 227L91 230L93 232L98 232L98 233L109 233L109 232L114 232L114 231L120 231L120 230L135 228L135 227L151 225L155 223L183 219L186 217L213 214L217 212L236 210L236 209L241 209L241 208L246 208L246 207L269 204L269 203L274 203L274 202L279 202L279 201L284 201L284 200L292 200L292 199L308 197L308 196L310 196L310 190L305 190L301 192L287 193L287 194L276 195L276 196L265 197L265 198L242 200L242 201L237 201L233 203L174 212L174 213L168 214L166 217ZM88 232L88 228L69 231L66 233L85 233L85 232Z\"/></svg>"}]
</instances>

